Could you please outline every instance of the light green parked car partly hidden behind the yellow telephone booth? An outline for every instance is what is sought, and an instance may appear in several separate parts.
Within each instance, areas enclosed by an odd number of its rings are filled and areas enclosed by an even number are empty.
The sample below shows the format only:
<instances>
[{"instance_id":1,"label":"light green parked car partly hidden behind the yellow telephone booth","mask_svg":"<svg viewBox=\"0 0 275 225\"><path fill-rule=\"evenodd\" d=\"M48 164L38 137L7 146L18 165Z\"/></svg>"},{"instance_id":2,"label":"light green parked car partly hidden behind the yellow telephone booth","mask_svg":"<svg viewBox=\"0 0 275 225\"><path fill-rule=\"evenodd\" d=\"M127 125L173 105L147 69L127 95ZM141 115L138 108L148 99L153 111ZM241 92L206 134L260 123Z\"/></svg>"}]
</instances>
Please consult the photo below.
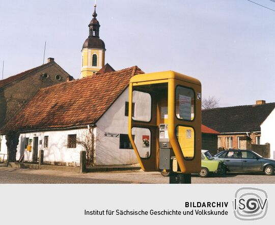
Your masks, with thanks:
<instances>
[{"instance_id":1,"label":"light green parked car partly hidden behind the yellow telephone booth","mask_svg":"<svg viewBox=\"0 0 275 225\"><path fill-rule=\"evenodd\" d=\"M202 168L199 173L200 177L207 177L209 173L218 173L223 175L226 173L226 167L221 160L214 159L208 150L202 150ZM163 177L169 177L171 172L161 172Z\"/></svg>"}]
</instances>

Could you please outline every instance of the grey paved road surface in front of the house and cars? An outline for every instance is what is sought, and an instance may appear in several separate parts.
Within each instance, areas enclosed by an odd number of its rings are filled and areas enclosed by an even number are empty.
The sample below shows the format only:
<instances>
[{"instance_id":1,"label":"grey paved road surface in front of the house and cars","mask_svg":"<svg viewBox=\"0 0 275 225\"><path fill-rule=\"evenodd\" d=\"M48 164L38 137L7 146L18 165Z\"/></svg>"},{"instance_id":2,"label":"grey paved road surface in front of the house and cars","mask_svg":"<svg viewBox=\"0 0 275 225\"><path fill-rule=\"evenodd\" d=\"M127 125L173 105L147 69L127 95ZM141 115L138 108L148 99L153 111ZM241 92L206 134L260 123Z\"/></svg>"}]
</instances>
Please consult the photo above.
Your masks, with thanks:
<instances>
[{"instance_id":1,"label":"grey paved road surface in front of the house and cars","mask_svg":"<svg viewBox=\"0 0 275 225\"><path fill-rule=\"evenodd\" d=\"M275 176L263 174L229 174L225 177L191 178L192 183L199 184L241 184L241 183L275 183ZM22 168L0 167L0 183L38 183L38 184L127 184L127 183L156 183L168 184L169 178L160 173L143 171L121 171L78 174L64 171L31 170Z\"/></svg>"}]
</instances>

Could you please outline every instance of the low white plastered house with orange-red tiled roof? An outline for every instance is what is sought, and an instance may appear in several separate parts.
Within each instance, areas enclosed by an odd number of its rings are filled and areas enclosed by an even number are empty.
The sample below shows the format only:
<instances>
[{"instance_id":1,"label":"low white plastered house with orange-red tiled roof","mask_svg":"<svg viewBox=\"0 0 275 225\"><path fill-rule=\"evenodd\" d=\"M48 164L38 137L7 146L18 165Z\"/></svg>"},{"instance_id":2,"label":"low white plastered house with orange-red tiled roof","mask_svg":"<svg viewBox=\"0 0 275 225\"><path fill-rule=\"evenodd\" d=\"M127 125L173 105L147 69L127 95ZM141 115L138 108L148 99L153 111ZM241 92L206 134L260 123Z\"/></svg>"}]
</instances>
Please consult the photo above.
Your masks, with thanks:
<instances>
[{"instance_id":1,"label":"low white plastered house with orange-red tiled roof","mask_svg":"<svg viewBox=\"0 0 275 225\"><path fill-rule=\"evenodd\" d=\"M93 131L96 165L137 163L128 138L128 84L141 73L134 66L41 89L2 128L0 154L7 154L5 133L16 130L20 133L17 160L24 156L23 161L37 161L39 150L44 150L45 162L77 165L84 149L74 140ZM136 99L141 102L133 107L144 104L143 96ZM136 137L142 135L150 133Z\"/></svg>"}]
</instances>

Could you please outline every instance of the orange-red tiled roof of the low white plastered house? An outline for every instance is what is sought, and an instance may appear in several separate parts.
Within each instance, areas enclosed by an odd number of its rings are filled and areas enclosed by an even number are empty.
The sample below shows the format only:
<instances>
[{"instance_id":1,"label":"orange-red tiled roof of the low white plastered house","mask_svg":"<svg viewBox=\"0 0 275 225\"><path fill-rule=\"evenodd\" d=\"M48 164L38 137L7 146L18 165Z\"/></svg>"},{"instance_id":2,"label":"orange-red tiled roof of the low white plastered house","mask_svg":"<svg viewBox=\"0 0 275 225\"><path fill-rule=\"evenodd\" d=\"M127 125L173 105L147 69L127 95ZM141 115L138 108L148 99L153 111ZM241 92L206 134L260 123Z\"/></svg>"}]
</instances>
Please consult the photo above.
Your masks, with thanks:
<instances>
[{"instance_id":1,"label":"orange-red tiled roof of the low white plastered house","mask_svg":"<svg viewBox=\"0 0 275 225\"><path fill-rule=\"evenodd\" d=\"M41 89L1 132L67 128L95 123L128 87L137 66Z\"/></svg>"}]
</instances>

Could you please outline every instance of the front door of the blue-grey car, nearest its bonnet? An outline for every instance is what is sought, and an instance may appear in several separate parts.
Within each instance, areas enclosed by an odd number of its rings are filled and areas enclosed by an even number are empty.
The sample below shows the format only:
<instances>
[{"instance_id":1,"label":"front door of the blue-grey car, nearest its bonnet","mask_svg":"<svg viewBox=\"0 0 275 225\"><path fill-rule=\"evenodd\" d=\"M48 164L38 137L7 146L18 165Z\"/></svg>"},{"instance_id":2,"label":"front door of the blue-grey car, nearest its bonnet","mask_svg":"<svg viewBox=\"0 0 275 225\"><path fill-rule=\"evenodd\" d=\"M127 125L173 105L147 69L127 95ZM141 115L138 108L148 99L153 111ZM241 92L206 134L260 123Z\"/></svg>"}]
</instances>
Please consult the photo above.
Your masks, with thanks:
<instances>
[{"instance_id":1,"label":"front door of the blue-grey car, nearest its bonnet","mask_svg":"<svg viewBox=\"0 0 275 225\"><path fill-rule=\"evenodd\" d=\"M242 151L242 171L262 171L261 159L250 151Z\"/></svg>"}]
</instances>

